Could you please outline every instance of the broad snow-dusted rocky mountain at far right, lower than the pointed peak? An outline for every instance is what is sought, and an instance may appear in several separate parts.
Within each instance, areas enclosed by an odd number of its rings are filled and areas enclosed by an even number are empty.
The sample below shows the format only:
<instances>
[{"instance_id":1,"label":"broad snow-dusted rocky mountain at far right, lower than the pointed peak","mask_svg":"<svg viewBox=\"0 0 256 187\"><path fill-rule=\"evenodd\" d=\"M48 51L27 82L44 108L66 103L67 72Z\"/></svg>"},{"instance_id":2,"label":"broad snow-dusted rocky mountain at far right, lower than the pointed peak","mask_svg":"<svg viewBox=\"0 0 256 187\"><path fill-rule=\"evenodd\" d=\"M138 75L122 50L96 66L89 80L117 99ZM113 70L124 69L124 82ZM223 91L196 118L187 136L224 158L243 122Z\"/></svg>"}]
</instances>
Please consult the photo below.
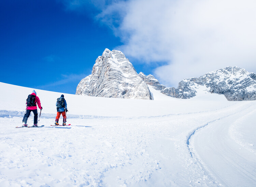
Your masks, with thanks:
<instances>
[{"instance_id":1,"label":"broad snow-dusted rocky mountain at far right, lower than the pointed peak","mask_svg":"<svg viewBox=\"0 0 256 187\"><path fill-rule=\"evenodd\" d=\"M229 101L256 100L256 74L236 66L211 71L199 78L183 79L177 89L165 88L161 92L188 99L196 95L198 85L210 88L211 93L223 94Z\"/></svg>"}]
</instances>

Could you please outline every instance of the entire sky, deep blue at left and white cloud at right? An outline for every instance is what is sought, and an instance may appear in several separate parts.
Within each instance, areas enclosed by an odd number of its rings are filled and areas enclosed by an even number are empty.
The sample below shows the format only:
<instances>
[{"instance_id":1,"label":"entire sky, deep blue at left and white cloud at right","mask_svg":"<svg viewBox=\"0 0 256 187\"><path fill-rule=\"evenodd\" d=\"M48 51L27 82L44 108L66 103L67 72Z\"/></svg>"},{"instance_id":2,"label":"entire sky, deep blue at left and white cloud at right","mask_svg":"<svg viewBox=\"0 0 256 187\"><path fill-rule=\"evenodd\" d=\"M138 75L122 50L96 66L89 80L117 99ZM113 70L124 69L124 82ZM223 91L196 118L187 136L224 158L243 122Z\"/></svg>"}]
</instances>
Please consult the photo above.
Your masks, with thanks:
<instances>
[{"instance_id":1,"label":"entire sky, deep blue at left and white cloud at right","mask_svg":"<svg viewBox=\"0 0 256 187\"><path fill-rule=\"evenodd\" d=\"M74 94L105 48L177 87L238 66L256 72L254 0L2 0L0 82Z\"/></svg>"}]
</instances>

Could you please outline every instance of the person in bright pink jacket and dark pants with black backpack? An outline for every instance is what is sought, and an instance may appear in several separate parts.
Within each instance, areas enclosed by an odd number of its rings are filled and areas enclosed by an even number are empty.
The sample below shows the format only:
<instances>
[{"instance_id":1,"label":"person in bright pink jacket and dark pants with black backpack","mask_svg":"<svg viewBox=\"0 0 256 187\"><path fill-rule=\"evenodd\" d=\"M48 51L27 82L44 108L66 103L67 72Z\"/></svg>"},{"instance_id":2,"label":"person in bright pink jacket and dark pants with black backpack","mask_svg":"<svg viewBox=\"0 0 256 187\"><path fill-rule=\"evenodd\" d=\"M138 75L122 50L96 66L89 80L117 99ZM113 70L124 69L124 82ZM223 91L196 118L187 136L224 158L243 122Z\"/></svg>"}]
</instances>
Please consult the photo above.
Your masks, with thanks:
<instances>
[{"instance_id":1,"label":"person in bright pink jacket and dark pants with black backpack","mask_svg":"<svg viewBox=\"0 0 256 187\"><path fill-rule=\"evenodd\" d=\"M28 126L27 121L28 121L28 118L29 118L31 112L34 113L34 125L33 126L37 126L37 116L38 116L37 105L41 110L43 109L43 107L41 106L40 99L39 99L39 97L37 97L37 92L35 92L35 90L33 90L32 94L28 95L26 104L27 104L26 113L22 120L23 126Z\"/></svg>"}]
</instances>

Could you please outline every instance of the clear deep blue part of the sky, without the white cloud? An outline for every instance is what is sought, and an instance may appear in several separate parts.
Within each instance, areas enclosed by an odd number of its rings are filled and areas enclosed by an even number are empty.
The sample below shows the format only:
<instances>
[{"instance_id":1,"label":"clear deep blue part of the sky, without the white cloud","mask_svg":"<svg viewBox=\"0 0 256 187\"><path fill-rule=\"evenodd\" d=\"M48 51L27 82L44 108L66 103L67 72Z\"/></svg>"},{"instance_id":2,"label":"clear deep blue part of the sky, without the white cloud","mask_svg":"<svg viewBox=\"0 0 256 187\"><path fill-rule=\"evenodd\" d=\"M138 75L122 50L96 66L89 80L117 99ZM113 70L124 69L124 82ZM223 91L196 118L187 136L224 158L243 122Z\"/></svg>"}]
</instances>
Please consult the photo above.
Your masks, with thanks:
<instances>
[{"instance_id":1,"label":"clear deep blue part of the sky, without the white cloud","mask_svg":"<svg viewBox=\"0 0 256 187\"><path fill-rule=\"evenodd\" d=\"M74 94L104 49L122 45L98 13L53 0L1 1L0 82Z\"/></svg>"}]
</instances>

